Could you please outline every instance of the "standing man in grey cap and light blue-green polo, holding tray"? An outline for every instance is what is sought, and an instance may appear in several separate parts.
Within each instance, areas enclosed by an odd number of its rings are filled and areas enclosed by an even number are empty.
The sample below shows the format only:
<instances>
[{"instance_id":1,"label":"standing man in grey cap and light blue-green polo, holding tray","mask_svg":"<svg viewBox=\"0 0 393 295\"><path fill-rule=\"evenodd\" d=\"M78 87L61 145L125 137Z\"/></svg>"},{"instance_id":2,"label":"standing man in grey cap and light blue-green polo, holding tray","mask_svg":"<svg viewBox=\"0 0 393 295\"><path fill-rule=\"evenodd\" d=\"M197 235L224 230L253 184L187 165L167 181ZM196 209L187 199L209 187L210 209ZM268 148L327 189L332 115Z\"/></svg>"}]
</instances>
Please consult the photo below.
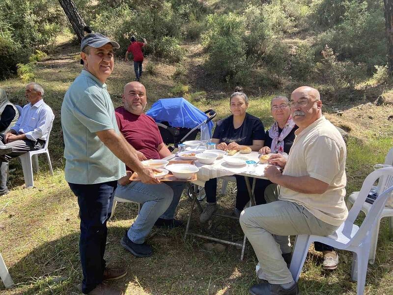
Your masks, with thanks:
<instances>
[{"instance_id":1,"label":"standing man in grey cap and light blue-green polo, holding tray","mask_svg":"<svg viewBox=\"0 0 393 295\"><path fill-rule=\"evenodd\" d=\"M160 183L151 169L143 167L141 154L117 127L105 82L113 70L113 48L119 47L100 33L84 36L84 68L65 93L61 106L65 179L78 197L82 292L89 295L123 294L102 282L127 273L126 268L106 267L104 260L107 220L117 180L126 175L124 163L138 173L143 183Z\"/></svg>"}]
</instances>

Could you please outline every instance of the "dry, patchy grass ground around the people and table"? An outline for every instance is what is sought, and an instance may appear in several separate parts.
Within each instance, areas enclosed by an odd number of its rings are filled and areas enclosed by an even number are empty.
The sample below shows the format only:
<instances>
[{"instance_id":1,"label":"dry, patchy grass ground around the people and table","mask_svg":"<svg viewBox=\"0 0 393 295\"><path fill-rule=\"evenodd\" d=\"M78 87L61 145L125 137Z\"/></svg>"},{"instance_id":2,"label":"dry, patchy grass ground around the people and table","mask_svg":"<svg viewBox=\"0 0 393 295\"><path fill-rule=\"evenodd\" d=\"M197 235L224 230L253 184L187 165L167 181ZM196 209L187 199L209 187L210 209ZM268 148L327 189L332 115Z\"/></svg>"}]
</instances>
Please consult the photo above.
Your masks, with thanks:
<instances>
[{"instance_id":1,"label":"dry, patchy grass ground around the people and table","mask_svg":"<svg viewBox=\"0 0 393 295\"><path fill-rule=\"evenodd\" d=\"M188 57L183 66L191 92L206 91L202 99L192 101L199 109L215 109L219 118L229 114L230 90L200 83L200 72L192 72L187 64L199 69L203 54L198 46L188 48ZM63 173L63 142L60 128L60 106L66 89L81 70L79 59L74 55L78 47L64 43L50 59L39 62L36 69L37 82L47 92L46 102L53 108L56 119L49 145L55 166L55 175L47 173L45 161L41 172L34 175L35 188L23 188L23 174L18 161L12 163L16 169L10 177L11 192L0 198L0 252L16 283L13 289L5 290L0 284L0 295L49 295L79 294L76 285L82 278L78 254L79 219L78 204L69 190ZM154 62L155 75L143 78L148 91L148 107L160 97L172 96L171 89L177 84L171 77L176 71L172 65ZM121 104L121 93L125 83L133 80L132 66L117 60L115 71L108 81L108 88L115 106ZM206 81L206 80L202 80ZM207 82L206 82L207 83ZM0 82L11 100L24 104L24 83L17 78ZM262 119L268 127L269 101L273 93L261 89L250 89L250 113ZM324 98L323 98L324 99ZM323 100L325 101L325 100ZM382 163L393 146L393 124L387 120L393 115L392 106L368 105L367 101L344 100L332 102L326 97L326 116L350 129L347 158L347 192L359 190L365 176L375 163ZM329 113L332 106L344 110L342 117ZM368 118L369 116L372 117ZM234 206L233 185L227 194L219 196L220 210L230 212ZM190 201L183 196L178 207L177 218L186 220ZM207 250L206 241L188 237L183 239L184 229L153 229L148 242L155 254L138 259L120 246L120 238L137 216L135 205L120 204L115 217L108 223L109 236L106 260L110 266L127 266L126 277L115 282L127 295L243 295L256 282L254 267L256 258L248 244L245 260L239 261L240 251L225 246L221 252ZM358 222L361 223L362 217ZM202 227L193 218L192 228L201 233L242 239L242 231L236 221L215 218ZM321 254L310 248L309 256L300 278L302 294L353 295L356 284L350 281L352 256L339 251L340 264L337 270L325 272L321 268ZM388 224L381 224L376 263L368 268L365 294L393 294L393 241L388 236Z\"/></svg>"}]
</instances>

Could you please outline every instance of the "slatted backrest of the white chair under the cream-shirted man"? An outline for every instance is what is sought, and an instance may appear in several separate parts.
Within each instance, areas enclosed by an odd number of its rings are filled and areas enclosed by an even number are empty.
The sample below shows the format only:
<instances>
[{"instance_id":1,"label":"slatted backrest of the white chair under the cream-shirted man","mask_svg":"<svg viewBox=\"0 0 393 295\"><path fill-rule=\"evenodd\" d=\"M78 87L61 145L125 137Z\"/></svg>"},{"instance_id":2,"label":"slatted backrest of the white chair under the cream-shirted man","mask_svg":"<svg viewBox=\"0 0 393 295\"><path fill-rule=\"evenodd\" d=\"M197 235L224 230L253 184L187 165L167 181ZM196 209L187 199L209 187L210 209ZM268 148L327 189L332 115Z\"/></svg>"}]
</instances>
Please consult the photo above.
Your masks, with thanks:
<instances>
[{"instance_id":1,"label":"slatted backrest of the white chair under the cream-shirted man","mask_svg":"<svg viewBox=\"0 0 393 295\"><path fill-rule=\"evenodd\" d=\"M352 225L359 215L363 204L365 203L365 198L368 196L368 193L374 184L374 182L383 177L386 181L384 184L384 191L382 194L378 196L378 198L374 201L371 206L371 209L368 211L368 214L365 216L362 225L359 228L359 231L352 237L351 243L360 244L360 242L365 238L368 231L373 229L373 224L375 222L379 222L379 216L382 214L383 209L385 208L385 204L388 201L392 191L393 191L393 168L381 168L376 171L371 172L363 182L362 189L360 190L356 201L349 211L347 220L345 221L345 225L343 228L343 233L350 233L352 231Z\"/></svg>"}]
</instances>

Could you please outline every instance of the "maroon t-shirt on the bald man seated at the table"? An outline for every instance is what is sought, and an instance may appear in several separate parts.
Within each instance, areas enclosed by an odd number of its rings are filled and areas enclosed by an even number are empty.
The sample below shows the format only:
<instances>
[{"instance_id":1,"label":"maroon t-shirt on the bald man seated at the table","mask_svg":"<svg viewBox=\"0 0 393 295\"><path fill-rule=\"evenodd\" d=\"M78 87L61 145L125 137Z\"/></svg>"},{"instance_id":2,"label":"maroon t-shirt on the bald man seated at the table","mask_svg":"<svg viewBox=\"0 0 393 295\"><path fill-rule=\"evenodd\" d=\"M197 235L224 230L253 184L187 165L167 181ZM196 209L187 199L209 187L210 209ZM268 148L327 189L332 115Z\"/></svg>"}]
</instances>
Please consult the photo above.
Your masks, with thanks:
<instances>
[{"instance_id":1,"label":"maroon t-shirt on the bald man seated at the table","mask_svg":"<svg viewBox=\"0 0 393 295\"><path fill-rule=\"evenodd\" d=\"M142 152L147 159L160 159L158 146L163 143L163 139L153 118L145 114L134 115L124 107L117 108L114 114L120 132L131 146Z\"/></svg>"}]
</instances>

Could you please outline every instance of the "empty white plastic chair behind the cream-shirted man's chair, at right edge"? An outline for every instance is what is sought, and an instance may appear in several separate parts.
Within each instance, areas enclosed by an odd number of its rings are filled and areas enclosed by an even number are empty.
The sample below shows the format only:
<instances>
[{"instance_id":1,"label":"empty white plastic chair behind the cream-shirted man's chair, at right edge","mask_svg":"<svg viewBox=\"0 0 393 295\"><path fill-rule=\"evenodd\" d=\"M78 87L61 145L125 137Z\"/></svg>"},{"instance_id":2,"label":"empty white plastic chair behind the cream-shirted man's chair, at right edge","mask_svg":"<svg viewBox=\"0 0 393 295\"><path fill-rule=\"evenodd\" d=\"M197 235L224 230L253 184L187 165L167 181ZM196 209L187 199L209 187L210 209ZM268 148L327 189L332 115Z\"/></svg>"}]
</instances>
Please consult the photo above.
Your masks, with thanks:
<instances>
[{"instance_id":1,"label":"empty white plastic chair behind the cream-shirted man's chair, at right edge","mask_svg":"<svg viewBox=\"0 0 393 295\"><path fill-rule=\"evenodd\" d=\"M393 165L393 148L391 148L385 158L385 163L388 165ZM378 181L377 185L377 194L379 195L386 189L386 186L384 185L383 180L380 179ZM352 207L352 204L355 203L356 199L358 198L359 192L353 192L349 197L347 201L347 207L350 209ZM363 203L363 206L361 210L365 213L365 215L368 214L368 212L371 209L371 204L368 203ZM374 264L375 261L375 254L377 250L377 243L378 243L378 235L379 235L379 225L381 223L381 219L383 217L389 217L389 236L393 236L393 208L392 207L385 207L382 211L382 214L380 218L378 219L378 222L375 225L375 229L372 231L372 237L371 237L371 248L370 248L370 253L368 257L368 263L369 264Z\"/></svg>"}]
</instances>

